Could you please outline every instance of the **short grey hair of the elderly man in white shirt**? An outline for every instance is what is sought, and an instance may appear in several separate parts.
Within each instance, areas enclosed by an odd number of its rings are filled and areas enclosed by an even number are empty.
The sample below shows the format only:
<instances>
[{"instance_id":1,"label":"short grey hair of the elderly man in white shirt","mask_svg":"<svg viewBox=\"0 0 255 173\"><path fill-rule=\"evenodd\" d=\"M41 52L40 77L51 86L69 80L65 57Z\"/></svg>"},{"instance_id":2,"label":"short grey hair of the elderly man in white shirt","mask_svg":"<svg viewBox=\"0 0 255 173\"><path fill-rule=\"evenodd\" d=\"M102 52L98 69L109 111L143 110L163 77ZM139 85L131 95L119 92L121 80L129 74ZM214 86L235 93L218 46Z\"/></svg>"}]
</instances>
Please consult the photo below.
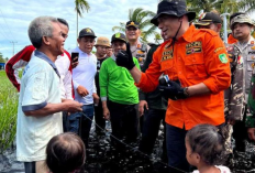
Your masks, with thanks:
<instances>
[{"instance_id":1,"label":"short grey hair of the elderly man in white shirt","mask_svg":"<svg viewBox=\"0 0 255 173\"><path fill-rule=\"evenodd\" d=\"M36 48L42 46L43 36L53 36L52 22L58 22L53 17L38 17L35 18L29 26L30 41Z\"/></svg>"}]
</instances>

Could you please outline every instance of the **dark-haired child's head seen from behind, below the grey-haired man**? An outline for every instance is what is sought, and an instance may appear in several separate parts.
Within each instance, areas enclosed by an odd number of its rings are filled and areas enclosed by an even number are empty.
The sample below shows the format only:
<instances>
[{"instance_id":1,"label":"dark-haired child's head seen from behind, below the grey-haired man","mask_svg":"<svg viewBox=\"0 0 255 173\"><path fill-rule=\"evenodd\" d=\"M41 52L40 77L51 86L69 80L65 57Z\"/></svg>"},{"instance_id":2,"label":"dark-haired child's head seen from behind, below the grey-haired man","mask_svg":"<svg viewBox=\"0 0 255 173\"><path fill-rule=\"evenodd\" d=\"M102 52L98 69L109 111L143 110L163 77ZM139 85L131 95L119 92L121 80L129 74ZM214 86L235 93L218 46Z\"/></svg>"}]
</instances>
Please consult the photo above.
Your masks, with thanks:
<instances>
[{"instance_id":1,"label":"dark-haired child's head seen from behind, below the grey-haired man","mask_svg":"<svg viewBox=\"0 0 255 173\"><path fill-rule=\"evenodd\" d=\"M78 136L62 133L49 140L46 164L53 173L70 173L84 165L85 152L85 144Z\"/></svg>"}]
</instances>

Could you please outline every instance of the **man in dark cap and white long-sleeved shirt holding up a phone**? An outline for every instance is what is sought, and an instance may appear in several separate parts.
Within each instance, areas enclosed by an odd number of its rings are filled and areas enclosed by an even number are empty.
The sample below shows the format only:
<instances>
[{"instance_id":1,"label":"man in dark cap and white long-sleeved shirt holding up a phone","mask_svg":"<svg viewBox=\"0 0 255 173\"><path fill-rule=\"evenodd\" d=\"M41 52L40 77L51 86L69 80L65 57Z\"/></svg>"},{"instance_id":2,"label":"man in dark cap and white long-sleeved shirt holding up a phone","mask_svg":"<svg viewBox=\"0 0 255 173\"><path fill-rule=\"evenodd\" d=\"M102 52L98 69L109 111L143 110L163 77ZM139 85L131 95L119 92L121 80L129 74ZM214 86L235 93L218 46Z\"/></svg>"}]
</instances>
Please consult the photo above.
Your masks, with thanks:
<instances>
[{"instance_id":1,"label":"man in dark cap and white long-sleeved shirt holding up a phone","mask_svg":"<svg viewBox=\"0 0 255 173\"><path fill-rule=\"evenodd\" d=\"M77 39L79 46L71 50L71 53L79 53L79 64L73 71L75 100L81 102L84 106L82 112L77 112L68 117L69 131L79 134L86 147L88 147L91 120L93 119L93 101L99 101L95 84L97 57L91 53L96 37L91 29L82 29Z\"/></svg>"}]
</instances>

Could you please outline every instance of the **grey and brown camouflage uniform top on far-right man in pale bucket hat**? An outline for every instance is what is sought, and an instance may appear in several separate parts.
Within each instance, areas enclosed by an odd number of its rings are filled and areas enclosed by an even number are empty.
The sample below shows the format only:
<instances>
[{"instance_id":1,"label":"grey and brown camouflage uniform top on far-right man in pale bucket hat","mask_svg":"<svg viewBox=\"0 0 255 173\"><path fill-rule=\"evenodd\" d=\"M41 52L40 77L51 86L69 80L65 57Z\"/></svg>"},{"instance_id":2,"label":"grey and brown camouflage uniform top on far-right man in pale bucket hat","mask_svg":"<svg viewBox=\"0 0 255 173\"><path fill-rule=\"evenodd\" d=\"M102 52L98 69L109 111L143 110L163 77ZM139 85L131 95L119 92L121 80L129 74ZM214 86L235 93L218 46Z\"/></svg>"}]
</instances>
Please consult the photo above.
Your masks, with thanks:
<instances>
[{"instance_id":1,"label":"grey and brown camouflage uniform top on far-right man in pale bucket hat","mask_svg":"<svg viewBox=\"0 0 255 173\"><path fill-rule=\"evenodd\" d=\"M231 60L231 87L225 91L225 115L228 119L243 120L254 68L255 54L252 55L251 50L253 45L254 37L251 37L245 45L241 45L239 42L228 45L228 53L234 55Z\"/></svg>"}]
</instances>

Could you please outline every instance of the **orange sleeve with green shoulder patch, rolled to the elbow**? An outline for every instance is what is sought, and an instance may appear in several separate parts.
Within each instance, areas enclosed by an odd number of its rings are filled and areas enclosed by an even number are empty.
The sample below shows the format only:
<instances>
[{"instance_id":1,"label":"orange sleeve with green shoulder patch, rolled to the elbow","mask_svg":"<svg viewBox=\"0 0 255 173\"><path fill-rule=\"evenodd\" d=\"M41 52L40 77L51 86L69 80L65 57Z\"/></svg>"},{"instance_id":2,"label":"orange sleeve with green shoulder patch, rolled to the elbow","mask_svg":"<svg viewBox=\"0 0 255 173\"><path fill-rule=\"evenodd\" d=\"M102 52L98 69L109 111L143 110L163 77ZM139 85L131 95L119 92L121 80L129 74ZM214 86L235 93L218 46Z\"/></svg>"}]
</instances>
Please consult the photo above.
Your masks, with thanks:
<instances>
[{"instance_id":1,"label":"orange sleeve with green shoulder patch, rolled to the elbow","mask_svg":"<svg viewBox=\"0 0 255 173\"><path fill-rule=\"evenodd\" d=\"M203 84L212 94L218 94L230 87L230 62L224 43L218 35L214 35L213 37L210 35L210 39L206 39L206 41L208 42L204 43L206 46L203 46L204 64L209 77L203 80Z\"/></svg>"}]
</instances>

